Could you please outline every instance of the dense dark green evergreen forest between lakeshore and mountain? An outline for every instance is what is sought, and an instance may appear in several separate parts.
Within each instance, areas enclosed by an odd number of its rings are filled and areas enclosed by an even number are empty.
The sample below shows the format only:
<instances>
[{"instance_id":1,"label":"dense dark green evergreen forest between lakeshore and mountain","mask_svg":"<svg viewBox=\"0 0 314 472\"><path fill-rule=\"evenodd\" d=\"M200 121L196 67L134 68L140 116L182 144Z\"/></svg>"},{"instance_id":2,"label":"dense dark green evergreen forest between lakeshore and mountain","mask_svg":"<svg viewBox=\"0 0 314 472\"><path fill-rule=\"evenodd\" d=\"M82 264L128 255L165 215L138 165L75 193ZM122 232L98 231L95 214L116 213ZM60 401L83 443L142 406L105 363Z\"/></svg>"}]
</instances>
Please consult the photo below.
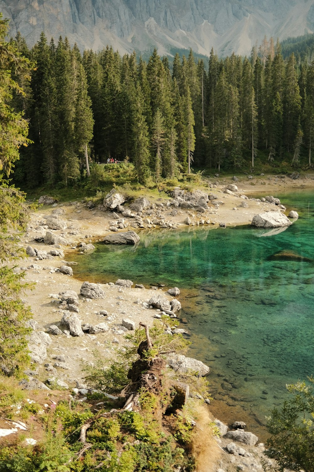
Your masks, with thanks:
<instances>
[{"instance_id":1,"label":"dense dark green evergreen forest between lakeshore and mountain","mask_svg":"<svg viewBox=\"0 0 314 472\"><path fill-rule=\"evenodd\" d=\"M13 77L25 95L12 107L24 111L32 140L16 163L24 188L71 185L88 161L110 158L132 163L141 183L192 167L253 172L256 159L311 165L314 62L293 52L284 59L272 39L245 58L212 49L208 68L192 50L170 64L157 50L147 62L109 46L81 54L43 33L31 50L20 34L11 42L32 64L30 81Z\"/></svg>"}]
</instances>

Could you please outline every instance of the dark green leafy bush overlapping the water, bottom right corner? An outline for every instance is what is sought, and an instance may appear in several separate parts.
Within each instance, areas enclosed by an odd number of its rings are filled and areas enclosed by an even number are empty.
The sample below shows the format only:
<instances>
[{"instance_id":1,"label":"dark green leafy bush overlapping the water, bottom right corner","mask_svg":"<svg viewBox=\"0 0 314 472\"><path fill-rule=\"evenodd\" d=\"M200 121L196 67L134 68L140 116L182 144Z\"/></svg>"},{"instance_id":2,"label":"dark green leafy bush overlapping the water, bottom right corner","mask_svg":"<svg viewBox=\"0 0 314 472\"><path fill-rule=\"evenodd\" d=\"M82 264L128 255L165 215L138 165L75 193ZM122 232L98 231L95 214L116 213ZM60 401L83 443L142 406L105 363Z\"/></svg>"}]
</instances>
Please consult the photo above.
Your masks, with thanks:
<instances>
[{"instance_id":1,"label":"dark green leafy bush overlapping the water, bottom right corner","mask_svg":"<svg viewBox=\"0 0 314 472\"><path fill-rule=\"evenodd\" d=\"M267 445L283 470L314 471L314 377L287 385L292 397L267 418Z\"/></svg>"}]
</instances>

